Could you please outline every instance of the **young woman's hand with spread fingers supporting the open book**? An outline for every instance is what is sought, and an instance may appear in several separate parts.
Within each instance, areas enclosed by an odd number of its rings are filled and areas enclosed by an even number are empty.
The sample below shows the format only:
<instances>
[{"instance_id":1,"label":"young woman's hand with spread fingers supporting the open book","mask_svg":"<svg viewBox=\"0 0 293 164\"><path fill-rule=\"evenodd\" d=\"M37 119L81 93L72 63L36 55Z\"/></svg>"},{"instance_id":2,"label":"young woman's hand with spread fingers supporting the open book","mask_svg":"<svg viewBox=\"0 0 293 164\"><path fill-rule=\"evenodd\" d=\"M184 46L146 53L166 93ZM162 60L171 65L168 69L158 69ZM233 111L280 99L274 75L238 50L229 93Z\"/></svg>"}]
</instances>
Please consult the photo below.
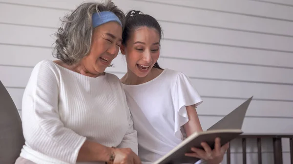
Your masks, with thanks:
<instances>
[{"instance_id":1,"label":"young woman's hand with spread fingers supporting the open book","mask_svg":"<svg viewBox=\"0 0 293 164\"><path fill-rule=\"evenodd\" d=\"M194 153L186 153L188 157L195 157L207 161L208 164L220 164L223 161L224 154L229 148L229 143L221 147L220 138L215 139L215 147L213 150L205 142L201 143L205 150L192 147L191 151Z\"/></svg>"}]
</instances>

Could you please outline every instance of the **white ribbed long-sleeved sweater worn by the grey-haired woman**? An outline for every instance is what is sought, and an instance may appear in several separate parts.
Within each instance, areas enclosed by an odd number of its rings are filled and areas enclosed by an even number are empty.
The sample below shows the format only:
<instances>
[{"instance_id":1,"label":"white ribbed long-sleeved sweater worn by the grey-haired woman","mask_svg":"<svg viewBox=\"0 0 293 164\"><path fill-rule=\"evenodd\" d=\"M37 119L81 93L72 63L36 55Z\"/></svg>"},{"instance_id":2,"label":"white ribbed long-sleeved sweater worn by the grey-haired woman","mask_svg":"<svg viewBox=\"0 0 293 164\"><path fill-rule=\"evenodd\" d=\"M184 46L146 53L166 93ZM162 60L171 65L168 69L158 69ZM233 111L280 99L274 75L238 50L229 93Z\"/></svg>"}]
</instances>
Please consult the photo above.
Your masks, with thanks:
<instances>
[{"instance_id":1,"label":"white ribbed long-sleeved sweater worn by the grey-haired woman","mask_svg":"<svg viewBox=\"0 0 293 164\"><path fill-rule=\"evenodd\" d=\"M114 74L93 78L43 60L25 88L21 118L21 157L37 164L75 164L86 139L138 151L126 96Z\"/></svg>"}]
</instances>

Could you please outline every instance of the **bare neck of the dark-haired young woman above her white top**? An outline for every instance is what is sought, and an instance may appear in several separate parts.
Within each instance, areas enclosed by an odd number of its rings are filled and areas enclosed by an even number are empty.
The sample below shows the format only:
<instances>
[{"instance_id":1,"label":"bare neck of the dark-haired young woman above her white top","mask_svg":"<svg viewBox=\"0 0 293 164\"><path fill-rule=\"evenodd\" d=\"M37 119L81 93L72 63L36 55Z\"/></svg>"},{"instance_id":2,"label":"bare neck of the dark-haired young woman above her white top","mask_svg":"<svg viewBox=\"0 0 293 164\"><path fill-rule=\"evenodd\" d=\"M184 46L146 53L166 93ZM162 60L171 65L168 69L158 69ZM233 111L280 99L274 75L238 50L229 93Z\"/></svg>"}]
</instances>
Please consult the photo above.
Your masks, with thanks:
<instances>
[{"instance_id":1,"label":"bare neck of the dark-haired young woman above her white top","mask_svg":"<svg viewBox=\"0 0 293 164\"><path fill-rule=\"evenodd\" d=\"M131 70L127 68L127 73L123 76L121 81L126 85L139 85L156 78L162 72L163 70L153 67L145 77L138 77L136 74L134 74Z\"/></svg>"}]
</instances>

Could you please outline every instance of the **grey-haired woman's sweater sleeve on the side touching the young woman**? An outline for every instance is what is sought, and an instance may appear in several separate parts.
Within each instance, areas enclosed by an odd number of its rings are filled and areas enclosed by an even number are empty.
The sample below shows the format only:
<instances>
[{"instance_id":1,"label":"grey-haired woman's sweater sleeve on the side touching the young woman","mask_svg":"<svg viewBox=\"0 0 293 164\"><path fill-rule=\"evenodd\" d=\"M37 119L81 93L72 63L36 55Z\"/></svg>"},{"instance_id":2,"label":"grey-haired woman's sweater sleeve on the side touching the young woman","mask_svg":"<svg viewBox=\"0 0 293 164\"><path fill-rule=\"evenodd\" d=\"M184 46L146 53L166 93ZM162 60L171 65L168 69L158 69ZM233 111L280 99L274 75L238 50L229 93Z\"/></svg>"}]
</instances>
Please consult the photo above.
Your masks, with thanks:
<instances>
[{"instance_id":1,"label":"grey-haired woman's sweater sleeve on the side touching the young woman","mask_svg":"<svg viewBox=\"0 0 293 164\"><path fill-rule=\"evenodd\" d=\"M121 90L123 92L123 104L126 109L127 119L128 119L128 129L126 131L125 136L121 144L118 146L119 148L131 148L131 150L138 155L138 140L137 140L137 131L133 128L133 120L130 113L130 109L127 105L125 91L121 86Z\"/></svg>"}]
</instances>

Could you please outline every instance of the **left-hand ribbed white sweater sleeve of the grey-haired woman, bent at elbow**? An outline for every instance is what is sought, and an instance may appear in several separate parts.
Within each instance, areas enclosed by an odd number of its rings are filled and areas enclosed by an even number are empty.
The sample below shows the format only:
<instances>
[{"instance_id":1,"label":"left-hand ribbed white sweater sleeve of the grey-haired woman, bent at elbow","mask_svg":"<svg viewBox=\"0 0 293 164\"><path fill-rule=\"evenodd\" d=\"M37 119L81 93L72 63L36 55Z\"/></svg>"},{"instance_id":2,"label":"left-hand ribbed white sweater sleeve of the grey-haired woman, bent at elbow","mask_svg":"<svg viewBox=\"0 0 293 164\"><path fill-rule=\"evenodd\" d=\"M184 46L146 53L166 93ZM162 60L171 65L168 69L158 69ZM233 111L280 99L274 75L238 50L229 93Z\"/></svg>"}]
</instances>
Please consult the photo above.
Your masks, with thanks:
<instances>
[{"instance_id":1,"label":"left-hand ribbed white sweater sleeve of the grey-haired woman, bent at elbow","mask_svg":"<svg viewBox=\"0 0 293 164\"><path fill-rule=\"evenodd\" d=\"M40 62L33 69L23 94L22 122L26 145L65 163L75 164L85 137L66 128L58 111L58 73Z\"/></svg>"}]
</instances>

